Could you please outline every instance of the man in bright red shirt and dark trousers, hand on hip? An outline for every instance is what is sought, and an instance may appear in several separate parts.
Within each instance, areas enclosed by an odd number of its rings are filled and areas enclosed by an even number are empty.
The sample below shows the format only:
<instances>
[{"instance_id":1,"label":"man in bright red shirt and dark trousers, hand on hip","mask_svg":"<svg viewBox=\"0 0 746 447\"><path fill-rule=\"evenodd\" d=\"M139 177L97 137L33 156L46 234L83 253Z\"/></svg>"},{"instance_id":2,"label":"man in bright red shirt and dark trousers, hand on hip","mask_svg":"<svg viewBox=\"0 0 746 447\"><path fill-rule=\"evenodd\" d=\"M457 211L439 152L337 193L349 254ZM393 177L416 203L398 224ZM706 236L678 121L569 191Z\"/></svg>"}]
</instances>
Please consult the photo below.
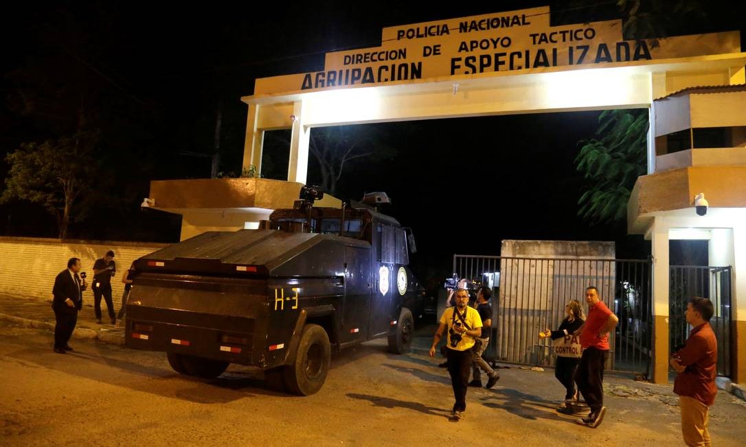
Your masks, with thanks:
<instances>
[{"instance_id":1,"label":"man in bright red shirt and dark trousers, hand on hip","mask_svg":"<svg viewBox=\"0 0 746 447\"><path fill-rule=\"evenodd\" d=\"M619 319L606 307L594 286L586 288L588 318L574 335L580 335L583 356L575 374L575 383L586 404L591 408L583 424L591 428L601 425L606 414L604 407L604 366L609 359L609 332Z\"/></svg>"}]
</instances>

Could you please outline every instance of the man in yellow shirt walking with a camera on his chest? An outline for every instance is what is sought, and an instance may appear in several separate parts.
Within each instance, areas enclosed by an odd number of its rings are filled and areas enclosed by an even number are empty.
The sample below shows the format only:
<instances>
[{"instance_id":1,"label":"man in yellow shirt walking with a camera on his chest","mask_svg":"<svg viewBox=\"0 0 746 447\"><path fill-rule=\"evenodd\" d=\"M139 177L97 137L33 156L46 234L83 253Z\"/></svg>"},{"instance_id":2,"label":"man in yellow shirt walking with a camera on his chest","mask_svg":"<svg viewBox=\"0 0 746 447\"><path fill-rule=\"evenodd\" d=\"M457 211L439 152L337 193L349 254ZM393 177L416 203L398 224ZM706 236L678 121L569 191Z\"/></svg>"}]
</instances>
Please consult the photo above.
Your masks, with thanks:
<instances>
[{"instance_id":1,"label":"man in yellow shirt walking with a camera on his chest","mask_svg":"<svg viewBox=\"0 0 746 447\"><path fill-rule=\"evenodd\" d=\"M451 420L460 421L466 410L466 386L474 357L471 348L474 339L482 336L482 319L476 309L468 306L468 291L456 292L456 307L445 309L440 317L440 325L430 346L430 357L435 357L435 347L448 328L448 343L445 345L448 358L448 373L454 387L456 403L451 411Z\"/></svg>"}]
</instances>

